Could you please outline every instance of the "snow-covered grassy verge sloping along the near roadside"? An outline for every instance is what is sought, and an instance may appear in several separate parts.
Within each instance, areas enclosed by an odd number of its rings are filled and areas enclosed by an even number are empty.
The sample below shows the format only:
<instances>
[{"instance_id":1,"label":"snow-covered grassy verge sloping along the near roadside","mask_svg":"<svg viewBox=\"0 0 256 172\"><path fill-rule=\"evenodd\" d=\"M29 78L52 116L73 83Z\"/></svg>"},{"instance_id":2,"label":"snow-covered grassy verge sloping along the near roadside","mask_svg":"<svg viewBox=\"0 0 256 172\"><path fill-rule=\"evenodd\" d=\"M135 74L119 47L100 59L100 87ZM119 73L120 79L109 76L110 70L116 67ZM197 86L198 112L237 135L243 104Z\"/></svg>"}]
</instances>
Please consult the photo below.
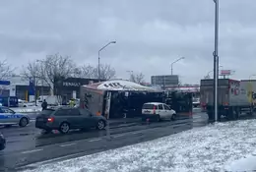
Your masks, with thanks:
<instances>
[{"instance_id":1,"label":"snow-covered grassy verge sloping along the near roadside","mask_svg":"<svg viewBox=\"0 0 256 172\"><path fill-rule=\"evenodd\" d=\"M255 131L256 120L219 123L147 143L40 165L28 172L235 171L235 164L239 163L236 160L254 156Z\"/></svg>"}]
</instances>

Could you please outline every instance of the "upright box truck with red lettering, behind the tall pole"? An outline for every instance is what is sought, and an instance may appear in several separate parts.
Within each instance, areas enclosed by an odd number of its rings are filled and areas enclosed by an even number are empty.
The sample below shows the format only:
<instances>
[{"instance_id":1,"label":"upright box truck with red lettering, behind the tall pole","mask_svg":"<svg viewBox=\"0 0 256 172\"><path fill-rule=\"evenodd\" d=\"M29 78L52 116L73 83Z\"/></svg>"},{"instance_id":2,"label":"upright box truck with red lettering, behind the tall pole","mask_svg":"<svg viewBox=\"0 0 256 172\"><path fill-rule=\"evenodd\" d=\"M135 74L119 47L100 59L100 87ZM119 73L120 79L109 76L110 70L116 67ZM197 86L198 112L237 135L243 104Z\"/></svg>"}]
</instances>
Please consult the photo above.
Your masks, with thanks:
<instances>
[{"instance_id":1,"label":"upright box truck with red lettering, behind the tall pole","mask_svg":"<svg viewBox=\"0 0 256 172\"><path fill-rule=\"evenodd\" d=\"M219 79L218 120L221 118L235 120L242 113L253 113L253 92L249 88L249 84L251 84L249 82L246 80ZM215 119L214 80L201 80L200 101L202 107L207 111L209 121L213 121Z\"/></svg>"}]
</instances>

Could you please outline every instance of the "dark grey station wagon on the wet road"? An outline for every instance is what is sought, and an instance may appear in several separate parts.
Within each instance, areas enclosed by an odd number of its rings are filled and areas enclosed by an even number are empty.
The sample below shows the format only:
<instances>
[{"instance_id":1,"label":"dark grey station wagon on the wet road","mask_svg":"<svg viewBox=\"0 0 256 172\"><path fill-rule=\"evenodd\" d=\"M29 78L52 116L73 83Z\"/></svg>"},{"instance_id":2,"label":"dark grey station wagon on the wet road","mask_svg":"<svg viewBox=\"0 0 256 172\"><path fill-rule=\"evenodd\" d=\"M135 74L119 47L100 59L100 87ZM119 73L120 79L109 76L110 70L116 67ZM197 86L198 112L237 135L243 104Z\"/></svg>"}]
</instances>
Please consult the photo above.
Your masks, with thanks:
<instances>
[{"instance_id":1,"label":"dark grey station wagon on the wet road","mask_svg":"<svg viewBox=\"0 0 256 172\"><path fill-rule=\"evenodd\" d=\"M47 108L35 119L35 128L47 133L58 130L67 134L71 129L89 128L103 130L105 126L106 119L103 116L96 116L87 109L77 107Z\"/></svg>"}]
</instances>

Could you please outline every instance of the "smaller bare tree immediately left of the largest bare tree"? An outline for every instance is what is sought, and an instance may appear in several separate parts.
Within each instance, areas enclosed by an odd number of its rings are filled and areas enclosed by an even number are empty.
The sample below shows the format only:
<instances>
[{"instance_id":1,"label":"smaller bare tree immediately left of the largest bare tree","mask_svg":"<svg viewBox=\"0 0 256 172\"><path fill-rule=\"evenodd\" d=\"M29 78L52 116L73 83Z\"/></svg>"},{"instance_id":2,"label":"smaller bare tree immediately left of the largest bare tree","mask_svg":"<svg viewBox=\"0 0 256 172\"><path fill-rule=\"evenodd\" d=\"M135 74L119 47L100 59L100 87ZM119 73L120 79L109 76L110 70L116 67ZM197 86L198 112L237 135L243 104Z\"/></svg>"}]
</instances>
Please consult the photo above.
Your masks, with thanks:
<instances>
[{"instance_id":1,"label":"smaller bare tree immediately left of the largest bare tree","mask_svg":"<svg viewBox=\"0 0 256 172\"><path fill-rule=\"evenodd\" d=\"M36 61L29 62L28 66L23 67L21 76L25 80L30 80L32 78L35 80L35 86L37 86L40 80L40 65L36 63Z\"/></svg>"}]
</instances>

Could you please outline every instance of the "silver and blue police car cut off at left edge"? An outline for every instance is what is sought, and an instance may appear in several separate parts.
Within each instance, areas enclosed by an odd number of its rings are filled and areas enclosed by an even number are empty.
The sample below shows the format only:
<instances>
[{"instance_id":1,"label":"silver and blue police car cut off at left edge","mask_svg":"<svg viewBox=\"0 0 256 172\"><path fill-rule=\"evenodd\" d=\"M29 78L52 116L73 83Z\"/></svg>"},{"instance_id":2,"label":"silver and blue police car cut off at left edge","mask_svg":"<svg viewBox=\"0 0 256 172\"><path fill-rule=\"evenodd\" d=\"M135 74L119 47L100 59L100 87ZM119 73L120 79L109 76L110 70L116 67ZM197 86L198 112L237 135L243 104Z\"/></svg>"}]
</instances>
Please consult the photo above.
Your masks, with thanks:
<instances>
[{"instance_id":1,"label":"silver and blue police car cut off at left edge","mask_svg":"<svg viewBox=\"0 0 256 172\"><path fill-rule=\"evenodd\" d=\"M30 118L26 114L16 113L8 107L0 107L0 126L19 125L26 127L30 123Z\"/></svg>"}]
</instances>

